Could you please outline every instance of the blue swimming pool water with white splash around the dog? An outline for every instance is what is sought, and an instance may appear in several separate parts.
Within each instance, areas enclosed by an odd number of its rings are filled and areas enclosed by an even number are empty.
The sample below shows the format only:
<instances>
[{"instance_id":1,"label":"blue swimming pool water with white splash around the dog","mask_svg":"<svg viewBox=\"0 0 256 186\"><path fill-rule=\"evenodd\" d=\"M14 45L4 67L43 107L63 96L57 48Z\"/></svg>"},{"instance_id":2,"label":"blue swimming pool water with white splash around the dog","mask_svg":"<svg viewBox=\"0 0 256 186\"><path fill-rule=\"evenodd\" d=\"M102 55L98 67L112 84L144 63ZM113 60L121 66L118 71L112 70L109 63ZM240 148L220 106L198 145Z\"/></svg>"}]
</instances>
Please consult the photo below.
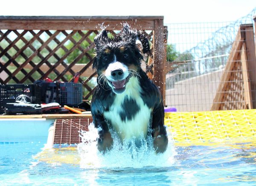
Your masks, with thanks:
<instances>
[{"instance_id":1,"label":"blue swimming pool water with white splash around the dog","mask_svg":"<svg viewBox=\"0 0 256 186\"><path fill-rule=\"evenodd\" d=\"M32 126L41 131L39 137L27 140L21 137L20 141L9 138L7 142L1 138L1 186L256 184L255 142L214 146L174 146L169 143L163 155L155 155L147 147L134 152L117 145L113 152L103 156L93 149L93 141L90 146L81 143L78 147L42 150L47 142L49 123ZM14 129L10 129L12 134Z\"/></svg>"}]
</instances>

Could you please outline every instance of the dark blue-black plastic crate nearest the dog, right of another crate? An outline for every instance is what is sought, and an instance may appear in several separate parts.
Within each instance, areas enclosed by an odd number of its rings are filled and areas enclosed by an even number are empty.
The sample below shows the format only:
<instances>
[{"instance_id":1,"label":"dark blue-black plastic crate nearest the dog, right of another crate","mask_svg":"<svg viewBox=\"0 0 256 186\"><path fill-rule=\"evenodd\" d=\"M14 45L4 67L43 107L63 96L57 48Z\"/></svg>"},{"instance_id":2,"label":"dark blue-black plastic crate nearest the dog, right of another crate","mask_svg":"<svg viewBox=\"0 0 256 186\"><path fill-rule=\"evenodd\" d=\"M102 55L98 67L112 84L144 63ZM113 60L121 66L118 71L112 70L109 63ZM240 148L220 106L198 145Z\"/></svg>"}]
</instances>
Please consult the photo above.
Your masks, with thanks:
<instances>
[{"instance_id":1,"label":"dark blue-black plastic crate nearest the dog, right of another crate","mask_svg":"<svg viewBox=\"0 0 256 186\"><path fill-rule=\"evenodd\" d=\"M45 103L57 102L60 105L78 105L83 100L81 83L47 83Z\"/></svg>"}]
</instances>

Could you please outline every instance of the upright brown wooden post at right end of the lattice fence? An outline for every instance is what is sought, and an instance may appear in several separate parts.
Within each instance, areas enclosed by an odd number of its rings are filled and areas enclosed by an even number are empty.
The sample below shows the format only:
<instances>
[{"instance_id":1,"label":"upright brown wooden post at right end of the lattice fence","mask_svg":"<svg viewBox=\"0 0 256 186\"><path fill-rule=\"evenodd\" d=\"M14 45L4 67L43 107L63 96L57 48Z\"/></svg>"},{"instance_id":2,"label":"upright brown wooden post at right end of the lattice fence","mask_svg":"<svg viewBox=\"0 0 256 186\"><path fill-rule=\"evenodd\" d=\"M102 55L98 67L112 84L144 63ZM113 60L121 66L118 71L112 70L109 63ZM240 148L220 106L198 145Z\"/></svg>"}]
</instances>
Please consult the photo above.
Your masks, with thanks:
<instances>
[{"instance_id":1,"label":"upright brown wooden post at right end of the lattice fence","mask_svg":"<svg viewBox=\"0 0 256 186\"><path fill-rule=\"evenodd\" d=\"M154 83L159 87L162 96L164 96L165 74L164 70L164 27L163 19L154 21ZM165 97L163 97L165 104Z\"/></svg>"}]
</instances>

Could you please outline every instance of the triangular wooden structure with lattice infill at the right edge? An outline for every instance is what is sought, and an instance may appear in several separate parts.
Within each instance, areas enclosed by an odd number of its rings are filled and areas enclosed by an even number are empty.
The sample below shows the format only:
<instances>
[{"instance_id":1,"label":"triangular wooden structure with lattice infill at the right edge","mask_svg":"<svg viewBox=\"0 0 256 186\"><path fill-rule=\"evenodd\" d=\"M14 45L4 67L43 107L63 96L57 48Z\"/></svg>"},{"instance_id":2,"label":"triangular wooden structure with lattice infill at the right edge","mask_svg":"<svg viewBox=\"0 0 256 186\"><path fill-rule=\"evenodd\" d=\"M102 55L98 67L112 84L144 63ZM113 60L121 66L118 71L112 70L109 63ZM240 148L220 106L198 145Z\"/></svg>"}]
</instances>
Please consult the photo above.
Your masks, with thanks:
<instances>
[{"instance_id":1,"label":"triangular wooden structure with lattice infill at the right edge","mask_svg":"<svg viewBox=\"0 0 256 186\"><path fill-rule=\"evenodd\" d=\"M256 109L253 25L239 27L211 110Z\"/></svg>"}]
</instances>

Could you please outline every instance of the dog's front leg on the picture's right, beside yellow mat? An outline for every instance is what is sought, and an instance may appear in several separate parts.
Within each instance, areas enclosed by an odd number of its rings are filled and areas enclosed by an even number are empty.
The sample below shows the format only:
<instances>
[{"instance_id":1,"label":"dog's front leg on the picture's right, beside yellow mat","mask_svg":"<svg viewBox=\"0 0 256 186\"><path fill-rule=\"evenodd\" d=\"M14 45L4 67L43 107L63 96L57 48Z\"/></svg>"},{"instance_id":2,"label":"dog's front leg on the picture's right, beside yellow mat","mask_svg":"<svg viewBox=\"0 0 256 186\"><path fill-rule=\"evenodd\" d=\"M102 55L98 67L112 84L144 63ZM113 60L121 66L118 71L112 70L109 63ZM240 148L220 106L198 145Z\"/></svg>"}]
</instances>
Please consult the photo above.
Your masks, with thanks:
<instances>
[{"instance_id":1,"label":"dog's front leg on the picture's right, beside yellow mat","mask_svg":"<svg viewBox=\"0 0 256 186\"><path fill-rule=\"evenodd\" d=\"M167 149L168 137L166 127L164 126L164 109L163 105L157 106L152 115L152 136L153 145L157 153L163 153Z\"/></svg>"}]
</instances>

